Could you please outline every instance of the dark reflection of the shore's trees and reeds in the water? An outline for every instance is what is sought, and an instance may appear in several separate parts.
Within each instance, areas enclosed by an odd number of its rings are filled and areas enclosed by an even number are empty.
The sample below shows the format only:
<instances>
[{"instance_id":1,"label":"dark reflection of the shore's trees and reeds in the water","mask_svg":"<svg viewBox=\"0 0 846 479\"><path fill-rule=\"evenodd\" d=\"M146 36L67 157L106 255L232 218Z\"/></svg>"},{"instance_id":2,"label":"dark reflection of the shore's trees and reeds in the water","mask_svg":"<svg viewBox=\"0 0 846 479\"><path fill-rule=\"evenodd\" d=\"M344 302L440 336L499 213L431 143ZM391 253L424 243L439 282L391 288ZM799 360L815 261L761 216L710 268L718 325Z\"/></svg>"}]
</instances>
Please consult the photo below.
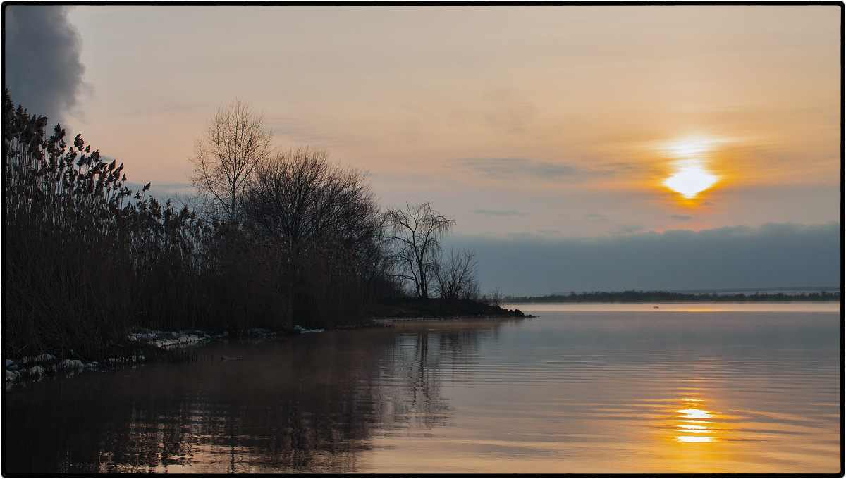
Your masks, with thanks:
<instances>
[{"instance_id":1,"label":"dark reflection of the shore's trees and reeds in the water","mask_svg":"<svg viewBox=\"0 0 846 479\"><path fill-rule=\"evenodd\" d=\"M437 371L508 321L233 341L193 363L47 378L6 393L3 472L354 472L374 434L445 424Z\"/></svg>"}]
</instances>

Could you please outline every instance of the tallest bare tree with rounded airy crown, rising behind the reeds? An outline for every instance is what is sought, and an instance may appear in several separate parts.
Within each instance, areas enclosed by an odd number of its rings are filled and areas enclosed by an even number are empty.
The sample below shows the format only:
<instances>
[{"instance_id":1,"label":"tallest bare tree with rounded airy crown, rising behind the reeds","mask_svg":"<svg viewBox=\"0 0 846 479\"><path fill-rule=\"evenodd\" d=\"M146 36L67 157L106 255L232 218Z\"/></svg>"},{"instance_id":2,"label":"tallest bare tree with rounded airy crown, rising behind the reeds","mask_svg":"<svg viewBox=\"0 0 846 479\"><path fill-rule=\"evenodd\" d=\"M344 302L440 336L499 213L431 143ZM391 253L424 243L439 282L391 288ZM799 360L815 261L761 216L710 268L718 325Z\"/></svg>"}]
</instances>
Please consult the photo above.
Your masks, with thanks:
<instances>
[{"instance_id":1,"label":"tallest bare tree with rounded airy crown, rising behind the reeds","mask_svg":"<svg viewBox=\"0 0 846 479\"><path fill-rule=\"evenodd\" d=\"M254 112L249 103L236 99L217 108L191 157L191 181L210 200L213 215L228 220L240 217L255 167L272 154L271 139L263 114Z\"/></svg>"}]
</instances>

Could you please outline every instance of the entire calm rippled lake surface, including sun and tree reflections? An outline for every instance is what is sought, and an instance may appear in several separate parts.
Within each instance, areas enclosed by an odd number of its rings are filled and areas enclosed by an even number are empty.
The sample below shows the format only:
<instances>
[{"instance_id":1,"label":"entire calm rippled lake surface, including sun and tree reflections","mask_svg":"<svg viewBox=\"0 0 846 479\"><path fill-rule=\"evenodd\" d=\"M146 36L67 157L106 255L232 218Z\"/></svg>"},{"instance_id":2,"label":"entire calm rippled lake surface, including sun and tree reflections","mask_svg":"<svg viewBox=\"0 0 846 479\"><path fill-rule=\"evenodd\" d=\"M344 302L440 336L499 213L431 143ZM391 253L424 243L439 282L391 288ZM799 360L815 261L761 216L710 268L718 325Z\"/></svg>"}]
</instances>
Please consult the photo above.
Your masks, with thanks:
<instances>
[{"instance_id":1,"label":"entire calm rippled lake surface, including sun and tree reflections","mask_svg":"<svg viewBox=\"0 0 846 479\"><path fill-rule=\"evenodd\" d=\"M3 472L841 470L838 304L604 306L213 342L15 386Z\"/></svg>"}]
</instances>

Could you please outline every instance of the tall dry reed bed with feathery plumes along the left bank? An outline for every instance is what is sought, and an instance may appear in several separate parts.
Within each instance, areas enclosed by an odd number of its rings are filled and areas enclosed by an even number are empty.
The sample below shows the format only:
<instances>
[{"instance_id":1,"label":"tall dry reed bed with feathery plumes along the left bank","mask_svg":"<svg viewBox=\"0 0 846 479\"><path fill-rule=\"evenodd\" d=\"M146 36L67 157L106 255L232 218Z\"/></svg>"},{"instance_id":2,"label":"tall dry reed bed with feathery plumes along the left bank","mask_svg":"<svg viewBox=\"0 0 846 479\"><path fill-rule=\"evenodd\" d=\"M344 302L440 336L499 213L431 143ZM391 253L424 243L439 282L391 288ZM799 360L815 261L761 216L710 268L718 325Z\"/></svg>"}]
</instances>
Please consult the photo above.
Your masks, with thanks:
<instances>
[{"instance_id":1,"label":"tall dry reed bed with feathery plumes along the left bank","mask_svg":"<svg viewBox=\"0 0 846 479\"><path fill-rule=\"evenodd\" d=\"M204 222L124 185L123 166L3 105L3 345L92 357L151 329L290 329L367 321L352 245Z\"/></svg>"}]
</instances>

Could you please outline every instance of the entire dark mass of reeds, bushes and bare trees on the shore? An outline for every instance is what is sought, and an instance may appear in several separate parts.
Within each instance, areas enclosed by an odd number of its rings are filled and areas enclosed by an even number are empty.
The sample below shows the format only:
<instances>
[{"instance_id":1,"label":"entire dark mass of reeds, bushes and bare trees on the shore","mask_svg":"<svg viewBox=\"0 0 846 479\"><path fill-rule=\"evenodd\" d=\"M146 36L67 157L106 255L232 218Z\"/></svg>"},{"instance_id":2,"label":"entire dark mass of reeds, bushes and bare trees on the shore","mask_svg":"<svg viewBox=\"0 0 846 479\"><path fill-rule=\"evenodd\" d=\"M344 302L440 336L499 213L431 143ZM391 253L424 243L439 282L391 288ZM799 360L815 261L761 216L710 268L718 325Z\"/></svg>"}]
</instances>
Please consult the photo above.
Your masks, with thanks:
<instances>
[{"instance_id":1,"label":"entire dark mass of reeds, bushes and bare trees on the shore","mask_svg":"<svg viewBox=\"0 0 846 479\"><path fill-rule=\"evenodd\" d=\"M9 354L96 354L130 328L291 329L369 322L386 298L487 302L454 220L382 209L365 174L308 147L277 151L261 113L217 109L182 209L126 186L124 166L3 102Z\"/></svg>"}]
</instances>

